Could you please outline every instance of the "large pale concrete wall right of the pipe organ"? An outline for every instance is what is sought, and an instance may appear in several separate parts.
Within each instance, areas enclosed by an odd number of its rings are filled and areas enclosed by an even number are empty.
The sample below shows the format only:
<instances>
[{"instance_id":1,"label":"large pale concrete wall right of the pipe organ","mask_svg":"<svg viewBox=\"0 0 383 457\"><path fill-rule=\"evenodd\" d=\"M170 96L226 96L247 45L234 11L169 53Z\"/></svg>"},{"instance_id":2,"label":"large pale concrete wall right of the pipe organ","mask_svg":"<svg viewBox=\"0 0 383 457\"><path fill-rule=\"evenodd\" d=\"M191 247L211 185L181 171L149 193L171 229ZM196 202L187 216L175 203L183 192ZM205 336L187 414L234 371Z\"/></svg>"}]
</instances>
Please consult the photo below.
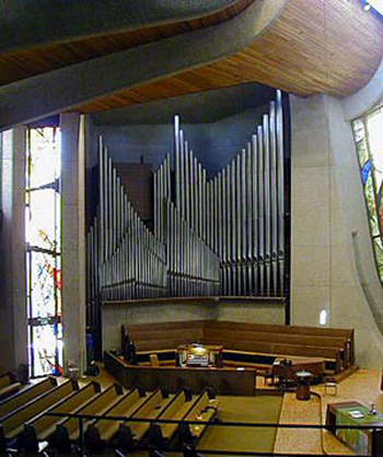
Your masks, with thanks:
<instances>
[{"instance_id":1,"label":"large pale concrete wall right of the pipe organ","mask_svg":"<svg viewBox=\"0 0 383 457\"><path fill-rule=\"evenodd\" d=\"M352 132L339 101L292 97L291 173L292 324L317 326L327 309L328 327L356 329L357 363L381 367L383 338L371 305L382 303L383 292Z\"/></svg>"}]
</instances>

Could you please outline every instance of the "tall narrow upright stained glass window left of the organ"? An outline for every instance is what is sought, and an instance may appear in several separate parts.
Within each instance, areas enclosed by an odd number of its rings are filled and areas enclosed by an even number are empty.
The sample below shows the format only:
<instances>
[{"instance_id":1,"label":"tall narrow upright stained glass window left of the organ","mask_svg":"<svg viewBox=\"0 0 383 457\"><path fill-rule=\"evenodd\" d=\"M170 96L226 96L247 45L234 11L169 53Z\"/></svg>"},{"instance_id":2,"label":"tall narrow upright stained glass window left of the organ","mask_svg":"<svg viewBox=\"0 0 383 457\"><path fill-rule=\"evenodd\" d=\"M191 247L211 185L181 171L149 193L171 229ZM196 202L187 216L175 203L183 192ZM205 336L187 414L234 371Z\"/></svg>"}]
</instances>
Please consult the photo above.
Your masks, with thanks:
<instances>
[{"instance_id":1,"label":"tall narrow upright stained glass window left of the organ","mask_svg":"<svg viewBox=\"0 0 383 457\"><path fill-rule=\"evenodd\" d=\"M27 130L26 164L30 371L35 377L62 371L59 128Z\"/></svg>"}]
</instances>

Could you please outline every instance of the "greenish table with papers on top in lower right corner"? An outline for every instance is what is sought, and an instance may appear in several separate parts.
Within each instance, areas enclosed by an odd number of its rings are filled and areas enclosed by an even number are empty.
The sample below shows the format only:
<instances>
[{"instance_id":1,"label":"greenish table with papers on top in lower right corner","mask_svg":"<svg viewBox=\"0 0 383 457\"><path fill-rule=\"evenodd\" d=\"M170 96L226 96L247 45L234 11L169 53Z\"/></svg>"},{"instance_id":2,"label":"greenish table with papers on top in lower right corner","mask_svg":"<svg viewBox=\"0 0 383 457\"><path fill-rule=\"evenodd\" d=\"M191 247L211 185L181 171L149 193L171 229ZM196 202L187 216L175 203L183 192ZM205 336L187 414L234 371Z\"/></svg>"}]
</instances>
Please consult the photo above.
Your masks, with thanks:
<instances>
[{"instance_id":1,"label":"greenish table with papers on top in lower right corner","mask_svg":"<svg viewBox=\"0 0 383 457\"><path fill-rule=\"evenodd\" d=\"M358 411L361 418L350 415L351 411ZM335 436L355 450L358 455L373 455L373 441L371 429L343 429L336 425L375 425L383 429L383 415L369 414L369 408L358 401L345 401L327 405L326 427ZM375 455L383 455L383 430L376 430Z\"/></svg>"}]
</instances>

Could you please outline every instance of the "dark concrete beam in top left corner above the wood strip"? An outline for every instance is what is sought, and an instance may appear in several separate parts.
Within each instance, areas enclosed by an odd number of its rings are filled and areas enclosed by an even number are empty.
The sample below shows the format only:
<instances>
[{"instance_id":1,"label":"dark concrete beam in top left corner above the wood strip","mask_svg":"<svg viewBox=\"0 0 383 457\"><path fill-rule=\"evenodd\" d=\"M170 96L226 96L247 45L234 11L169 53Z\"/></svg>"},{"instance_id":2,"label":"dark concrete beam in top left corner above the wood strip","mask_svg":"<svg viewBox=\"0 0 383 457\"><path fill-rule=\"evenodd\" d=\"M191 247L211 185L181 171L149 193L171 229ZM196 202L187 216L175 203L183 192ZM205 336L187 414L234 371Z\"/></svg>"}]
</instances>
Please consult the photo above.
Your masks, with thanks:
<instances>
[{"instance_id":1,"label":"dark concrete beam in top left corner above the wood strip","mask_svg":"<svg viewBox=\"0 0 383 457\"><path fill-rule=\"evenodd\" d=\"M237 0L2 0L0 52L210 15Z\"/></svg>"}]
</instances>

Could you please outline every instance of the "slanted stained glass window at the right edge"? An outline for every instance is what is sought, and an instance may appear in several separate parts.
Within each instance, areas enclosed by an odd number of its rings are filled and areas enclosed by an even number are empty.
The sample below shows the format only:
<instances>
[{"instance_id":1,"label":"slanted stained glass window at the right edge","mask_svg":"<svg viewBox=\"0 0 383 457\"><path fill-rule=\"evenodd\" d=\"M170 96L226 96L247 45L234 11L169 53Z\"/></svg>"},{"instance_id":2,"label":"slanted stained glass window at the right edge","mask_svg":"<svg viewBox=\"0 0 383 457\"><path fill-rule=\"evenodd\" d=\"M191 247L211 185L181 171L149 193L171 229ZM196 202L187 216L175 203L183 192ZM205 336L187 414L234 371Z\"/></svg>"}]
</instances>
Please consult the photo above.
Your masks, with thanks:
<instances>
[{"instance_id":1,"label":"slanted stained glass window at the right edge","mask_svg":"<svg viewBox=\"0 0 383 457\"><path fill-rule=\"evenodd\" d=\"M383 283L383 107L352 122L378 273Z\"/></svg>"}]
</instances>

